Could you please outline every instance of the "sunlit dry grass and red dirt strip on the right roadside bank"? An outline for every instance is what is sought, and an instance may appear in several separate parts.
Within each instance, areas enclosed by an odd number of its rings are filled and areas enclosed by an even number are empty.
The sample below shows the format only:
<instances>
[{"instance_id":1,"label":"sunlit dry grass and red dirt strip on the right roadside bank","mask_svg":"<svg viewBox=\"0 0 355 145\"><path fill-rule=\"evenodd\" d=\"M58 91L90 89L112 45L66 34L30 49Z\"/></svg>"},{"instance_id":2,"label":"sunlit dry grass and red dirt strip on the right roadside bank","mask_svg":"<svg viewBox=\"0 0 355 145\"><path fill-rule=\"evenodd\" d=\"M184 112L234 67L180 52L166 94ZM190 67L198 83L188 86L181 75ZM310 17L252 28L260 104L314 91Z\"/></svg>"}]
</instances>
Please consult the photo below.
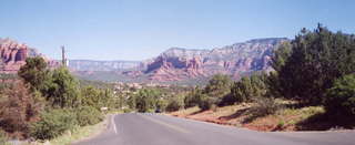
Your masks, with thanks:
<instances>
[{"instance_id":1,"label":"sunlit dry grass and red dirt strip on the right roadside bank","mask_svg":"<svg viewBox=\"0 0 355 145\"><path fill-rule=\"evenodd\" d=\"M215 111L201 111L199 107L191 107L171 113L179 117L186 117L197 121L212 122L224 125L243 126L256 131L297 131L297 125L307 118L323 114L322 106L296 106L297 102L276 100L283 106L275 114L254 115L253 103L242 103L216 107Z\"/></svg>"}]
</instances>

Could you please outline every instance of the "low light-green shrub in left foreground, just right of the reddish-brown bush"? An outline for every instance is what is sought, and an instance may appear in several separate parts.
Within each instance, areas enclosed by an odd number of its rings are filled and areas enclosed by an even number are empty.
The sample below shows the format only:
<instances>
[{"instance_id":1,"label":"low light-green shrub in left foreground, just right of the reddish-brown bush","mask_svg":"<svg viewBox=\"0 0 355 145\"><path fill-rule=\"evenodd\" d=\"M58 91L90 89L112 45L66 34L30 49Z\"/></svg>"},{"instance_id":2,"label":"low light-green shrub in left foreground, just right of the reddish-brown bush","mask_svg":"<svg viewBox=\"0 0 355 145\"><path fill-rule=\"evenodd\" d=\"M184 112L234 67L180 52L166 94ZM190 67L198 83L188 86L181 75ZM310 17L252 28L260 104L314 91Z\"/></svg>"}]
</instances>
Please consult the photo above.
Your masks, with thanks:
<instances>
[{"instance_id":1,"label":"low light-green shrub in left foreground, just right of the reddish-brown bush","mask_svg":"<svg viewBox=\"0 0 355 145\"><path fill-rule=\"evenodd\" d=\"M31 136L37 139L54 138L78 124L75 113L69 110L51 110L42 113L40 118L30 127Z\"/></svg>"}]
</instances>

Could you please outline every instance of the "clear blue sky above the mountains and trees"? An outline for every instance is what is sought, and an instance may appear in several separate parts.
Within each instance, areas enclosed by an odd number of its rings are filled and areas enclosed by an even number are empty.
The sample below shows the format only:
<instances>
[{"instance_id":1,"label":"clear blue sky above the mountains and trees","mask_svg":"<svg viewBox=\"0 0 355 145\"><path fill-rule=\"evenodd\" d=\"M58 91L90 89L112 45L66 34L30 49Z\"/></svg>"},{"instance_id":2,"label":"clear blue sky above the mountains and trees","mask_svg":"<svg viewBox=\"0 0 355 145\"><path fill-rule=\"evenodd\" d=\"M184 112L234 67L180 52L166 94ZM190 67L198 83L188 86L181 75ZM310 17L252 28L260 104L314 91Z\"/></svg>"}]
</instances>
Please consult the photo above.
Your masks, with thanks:
<instances>
[{"instance_id":1,"label":"clear blue sky above the mountains and trees","mask_svg":"<svg viewBox=\"0 0 355 145\"><path fill-rule=\"evenodd\" d=\"M0 38L59 59L144 60L171 46L213 49L294 38L318 22L355 33L354 0L2 0Z\"/></svg>"}]
</instances>

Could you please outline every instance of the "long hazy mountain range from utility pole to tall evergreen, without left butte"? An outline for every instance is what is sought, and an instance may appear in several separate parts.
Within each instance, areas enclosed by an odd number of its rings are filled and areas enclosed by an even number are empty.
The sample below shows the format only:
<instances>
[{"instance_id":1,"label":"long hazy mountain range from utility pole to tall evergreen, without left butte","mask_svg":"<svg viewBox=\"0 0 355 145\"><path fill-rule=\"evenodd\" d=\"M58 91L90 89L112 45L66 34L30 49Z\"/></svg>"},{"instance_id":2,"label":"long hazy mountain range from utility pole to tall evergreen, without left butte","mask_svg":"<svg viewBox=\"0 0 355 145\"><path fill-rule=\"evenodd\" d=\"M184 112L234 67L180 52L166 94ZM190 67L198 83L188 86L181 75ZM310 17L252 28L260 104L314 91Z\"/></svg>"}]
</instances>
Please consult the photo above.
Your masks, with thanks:
<instances>
[{"instance_id":1,"label":"long hazy mountain range from utility pole to tall evergreen, without left butte","mask_svg":"<svg viewBox=\"0 0 355 145\"><path fill-rule=\"evenodd\" d=\"M71 60L80 77L103 81L196 83L216 73L234 79L254 71L270 71L273 51L286 38L254 39L212 50L171 48L148 61Z\"/></svg>"}]
</instances>

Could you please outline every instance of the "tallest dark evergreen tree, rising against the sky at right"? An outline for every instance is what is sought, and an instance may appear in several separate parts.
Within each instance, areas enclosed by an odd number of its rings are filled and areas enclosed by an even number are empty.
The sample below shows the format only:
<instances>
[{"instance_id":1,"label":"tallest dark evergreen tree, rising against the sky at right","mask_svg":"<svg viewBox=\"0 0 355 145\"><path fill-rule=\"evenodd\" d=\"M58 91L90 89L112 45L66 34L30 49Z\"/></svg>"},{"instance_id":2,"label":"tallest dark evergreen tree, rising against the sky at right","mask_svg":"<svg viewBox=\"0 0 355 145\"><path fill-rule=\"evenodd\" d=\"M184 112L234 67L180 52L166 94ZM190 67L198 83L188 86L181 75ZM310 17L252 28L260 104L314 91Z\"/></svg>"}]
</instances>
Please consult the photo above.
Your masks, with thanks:
<instances>
[{"instance_id":1,"label":"tallest dark evergreen tree, rising against the sky at right","mask_svg":"<svg viewBox=\"0 0 355 145\"><path fill-rule=\"evenodd\" d=\"M273 59L272 75L277 79L271 90L304 103L320 104L335 79L355 71L354 37L333 33L321 24L313 32L303 29L291 50L282 51L284 56L276 53Z\"/></svg>"}]
</instances>

